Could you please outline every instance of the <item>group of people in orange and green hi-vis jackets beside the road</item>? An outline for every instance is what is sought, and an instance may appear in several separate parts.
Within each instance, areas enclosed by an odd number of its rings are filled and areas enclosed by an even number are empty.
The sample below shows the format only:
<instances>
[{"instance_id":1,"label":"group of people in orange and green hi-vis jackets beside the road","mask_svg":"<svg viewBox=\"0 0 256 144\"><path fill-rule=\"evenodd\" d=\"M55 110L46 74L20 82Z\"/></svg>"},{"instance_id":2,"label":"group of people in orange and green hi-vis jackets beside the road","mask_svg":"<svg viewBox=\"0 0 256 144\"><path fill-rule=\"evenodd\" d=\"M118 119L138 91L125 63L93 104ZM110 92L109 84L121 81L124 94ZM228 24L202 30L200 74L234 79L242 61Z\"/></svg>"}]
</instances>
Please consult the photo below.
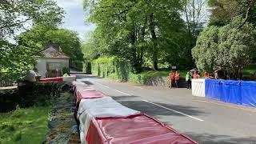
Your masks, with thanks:
<instances>
[{"instance_id":1,"label":"group of people in orange and green hi-vis jackets beside the road","mask_svg":"<svg viewBox=\"0 0 256 144\"><path fill-rule=\"evenodd\" d=\"M191 87L192 87L192 84L191 84L192 78L193 79L200 78L200 74L198 73L198 71L195 71L194 74L191 74L190 71L187 72L187 74L186 74L186 88L187 89L191 89ZM204 78L214 78L214 77L212 74L208 74L207 72L205 72ZM169 87L172 88L173 83L175 82L176 88L178 88L179 79L180 79L180 74L178 73L178 71L176 71L174 74L173 70L171 70L170 74L169 74Z\"/></svg>"}]
</instances>

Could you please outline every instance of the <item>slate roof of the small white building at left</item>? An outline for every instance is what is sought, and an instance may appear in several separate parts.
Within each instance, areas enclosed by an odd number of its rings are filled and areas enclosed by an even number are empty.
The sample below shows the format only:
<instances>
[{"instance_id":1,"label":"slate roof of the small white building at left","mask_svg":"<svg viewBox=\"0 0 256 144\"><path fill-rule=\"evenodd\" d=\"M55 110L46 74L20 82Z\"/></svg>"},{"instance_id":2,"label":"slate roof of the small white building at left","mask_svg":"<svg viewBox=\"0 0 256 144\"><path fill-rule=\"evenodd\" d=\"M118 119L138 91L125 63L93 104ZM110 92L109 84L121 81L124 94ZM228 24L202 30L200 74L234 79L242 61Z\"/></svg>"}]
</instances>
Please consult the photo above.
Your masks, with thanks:
<instances>
[{"instance_id":1,"label":"slate roof of the small white building at left","mask_svg":"<svg viewBox=\"0 0 256 144\"><path fill-rule=\"evenodd\" d=\"M45 46L44 50L41 50L39 54L43 58L69 58L61 51L59 46L57 47L52 45Z\"/></svg>"}]
</instances>

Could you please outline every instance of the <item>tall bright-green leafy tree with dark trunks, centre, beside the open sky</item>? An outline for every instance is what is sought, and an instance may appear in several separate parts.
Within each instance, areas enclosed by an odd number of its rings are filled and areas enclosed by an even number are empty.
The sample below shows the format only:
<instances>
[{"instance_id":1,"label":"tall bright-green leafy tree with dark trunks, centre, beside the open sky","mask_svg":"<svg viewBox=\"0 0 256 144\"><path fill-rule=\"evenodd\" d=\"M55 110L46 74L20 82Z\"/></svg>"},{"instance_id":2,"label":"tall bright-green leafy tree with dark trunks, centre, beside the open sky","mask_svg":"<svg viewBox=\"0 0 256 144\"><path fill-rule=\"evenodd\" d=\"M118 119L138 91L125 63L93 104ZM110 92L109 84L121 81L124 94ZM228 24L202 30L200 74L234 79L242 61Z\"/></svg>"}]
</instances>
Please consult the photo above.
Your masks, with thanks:
<instances>
[{"instance_id":1,"label":"tall bright-green leafy tree with dark trunks, centre, beside the open sky","mask_svg":"<svg viewBox=\"0 0 256 144\"><path fill-rule=\"evenodd\" d=\"M182 45L175 38L175 34L186 33L179 14L181 5L179 0L85 1L90 9L89 21L97 26L100 49L128 59L135 72L142 70L146 56L152 68L158 70L162 53L174 48L163 43Z\"/></svg>"}]
</instances>

